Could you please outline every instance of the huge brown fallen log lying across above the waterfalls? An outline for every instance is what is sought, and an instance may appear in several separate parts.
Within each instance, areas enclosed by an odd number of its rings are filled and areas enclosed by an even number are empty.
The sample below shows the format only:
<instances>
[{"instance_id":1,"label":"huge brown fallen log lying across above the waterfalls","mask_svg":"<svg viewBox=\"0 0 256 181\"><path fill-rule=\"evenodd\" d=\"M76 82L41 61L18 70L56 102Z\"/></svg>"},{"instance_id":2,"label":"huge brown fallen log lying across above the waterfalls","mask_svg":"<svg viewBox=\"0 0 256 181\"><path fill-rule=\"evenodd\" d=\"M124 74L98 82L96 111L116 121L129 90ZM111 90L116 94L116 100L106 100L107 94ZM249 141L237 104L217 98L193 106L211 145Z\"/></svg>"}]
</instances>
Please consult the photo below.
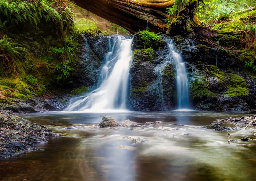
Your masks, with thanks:
<instances>
[{"instance_id":1,"label":"huge brown fallen log lying across above the waterfalls","mask_svg":"<svg viewBox=\"0 0 256 181\"><path fill-rule=\"evenodd\" d=\"M134 34L149 28L166 32L166 8L175 0L75 0L76 5L106 19Z\"/></svg>"}]
</instances>

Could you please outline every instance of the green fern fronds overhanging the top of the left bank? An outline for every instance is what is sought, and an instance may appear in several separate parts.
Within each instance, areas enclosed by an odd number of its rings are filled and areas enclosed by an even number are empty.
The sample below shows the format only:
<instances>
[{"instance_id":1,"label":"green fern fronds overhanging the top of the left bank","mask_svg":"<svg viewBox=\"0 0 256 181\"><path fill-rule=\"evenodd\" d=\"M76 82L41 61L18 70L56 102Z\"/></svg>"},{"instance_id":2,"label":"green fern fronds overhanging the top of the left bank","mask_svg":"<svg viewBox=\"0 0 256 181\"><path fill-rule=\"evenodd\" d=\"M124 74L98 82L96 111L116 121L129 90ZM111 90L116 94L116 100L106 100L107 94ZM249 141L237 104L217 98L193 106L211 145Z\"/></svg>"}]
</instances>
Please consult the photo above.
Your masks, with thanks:
<instances>
[{"instance_id":1,"label":"green fern fronds overhanging the top of the left bank","mask_svg":"<svg viewBox=\"0 0 256 181\"><path fill-rule=\"evenodd\" d=\"M56 28L66 36L67 28L73 23L72 4L66 0L56 0L47 3L46 0L0 1L0 27L3 29L6 23L34 23L38 24L42 19L53 22Z\"/></svg>"}]
</instances>

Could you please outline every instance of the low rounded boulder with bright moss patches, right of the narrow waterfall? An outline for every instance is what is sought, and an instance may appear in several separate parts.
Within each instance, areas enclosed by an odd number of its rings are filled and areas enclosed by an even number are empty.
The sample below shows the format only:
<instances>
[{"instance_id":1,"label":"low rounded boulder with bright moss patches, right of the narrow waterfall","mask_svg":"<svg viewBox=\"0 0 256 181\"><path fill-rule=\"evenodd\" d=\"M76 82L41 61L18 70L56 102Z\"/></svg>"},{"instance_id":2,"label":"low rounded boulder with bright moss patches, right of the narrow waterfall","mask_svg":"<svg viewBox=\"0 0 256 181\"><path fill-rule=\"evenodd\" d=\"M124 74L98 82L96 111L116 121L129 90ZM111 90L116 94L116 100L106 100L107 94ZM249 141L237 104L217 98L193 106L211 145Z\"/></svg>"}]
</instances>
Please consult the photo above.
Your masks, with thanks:
<instances>
[{"instance_id":1,"label":"low rounded boulder with bright moss patches, right of the narrow waterfall","mask_svg":"<svg viewBox=\"0 0 256 181\"><path fill-rule=\"evenodd\" d=\"M189 83L194 108L226 111L248 111L253 108L251 99L255 90L249 89L240 75L198 61L189 69L192 69L189 71Z\"/></svg>"}]
</instances>

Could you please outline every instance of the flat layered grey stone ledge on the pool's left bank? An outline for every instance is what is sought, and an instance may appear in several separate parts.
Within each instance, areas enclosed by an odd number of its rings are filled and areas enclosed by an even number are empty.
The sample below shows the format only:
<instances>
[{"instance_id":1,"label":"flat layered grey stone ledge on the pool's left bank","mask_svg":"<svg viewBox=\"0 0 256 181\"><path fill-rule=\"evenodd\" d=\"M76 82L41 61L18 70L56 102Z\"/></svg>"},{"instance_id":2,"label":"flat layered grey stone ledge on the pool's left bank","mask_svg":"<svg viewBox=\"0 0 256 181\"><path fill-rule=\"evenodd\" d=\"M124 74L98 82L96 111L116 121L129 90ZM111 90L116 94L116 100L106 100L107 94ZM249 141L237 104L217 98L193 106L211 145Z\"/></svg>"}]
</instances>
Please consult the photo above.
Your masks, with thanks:
<instances>
[{"instance_id":1,"label":"flat layered grey stone ledge on the pool's left bank","mask_svg":"<svg viewBox=\"0 0 256 181\"><path fill-rule=\"evenodd\" d=\"M0 115L0 159L37 150L34 143L47 143L50 136L61 134L18 116Z\"/></svg>"}]
</instances>

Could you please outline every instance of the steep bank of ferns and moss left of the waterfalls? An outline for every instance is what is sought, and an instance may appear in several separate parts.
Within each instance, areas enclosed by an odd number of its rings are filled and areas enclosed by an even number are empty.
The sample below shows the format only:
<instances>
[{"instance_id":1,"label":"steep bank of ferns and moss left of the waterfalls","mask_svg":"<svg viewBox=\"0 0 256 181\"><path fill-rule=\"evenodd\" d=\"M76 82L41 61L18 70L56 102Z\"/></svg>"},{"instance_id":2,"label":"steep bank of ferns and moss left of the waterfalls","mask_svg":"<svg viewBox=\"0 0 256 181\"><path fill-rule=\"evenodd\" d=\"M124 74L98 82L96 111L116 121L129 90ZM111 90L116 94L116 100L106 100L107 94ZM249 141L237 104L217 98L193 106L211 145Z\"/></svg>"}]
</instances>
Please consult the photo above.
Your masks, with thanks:
<instances>
[{"instance_id":1,"label":"steep bank of ferns and moss left of the waterfalls","mask_svg":"<svg viewBox=\"0 0 256 181\"><path fill-rule=\"evenodd\" d=\"M72 82L80 36L74 25L73 8L69 0L0 0L0 91L5 92L0 93L2 96L30 97L61 86L66 89ZM32 40L36 48L41 47L37 54L22 32L23 27L30 26L34 29L24 28L28 38L37 32L43 35L40 40ZM13 28L21 28L21 36ZM49 31L49 36L44 37L42 30ZM14 80L24 89L5 85ZM27 89L30 92L23 91Z\"/></svg>"}]
</instances>

